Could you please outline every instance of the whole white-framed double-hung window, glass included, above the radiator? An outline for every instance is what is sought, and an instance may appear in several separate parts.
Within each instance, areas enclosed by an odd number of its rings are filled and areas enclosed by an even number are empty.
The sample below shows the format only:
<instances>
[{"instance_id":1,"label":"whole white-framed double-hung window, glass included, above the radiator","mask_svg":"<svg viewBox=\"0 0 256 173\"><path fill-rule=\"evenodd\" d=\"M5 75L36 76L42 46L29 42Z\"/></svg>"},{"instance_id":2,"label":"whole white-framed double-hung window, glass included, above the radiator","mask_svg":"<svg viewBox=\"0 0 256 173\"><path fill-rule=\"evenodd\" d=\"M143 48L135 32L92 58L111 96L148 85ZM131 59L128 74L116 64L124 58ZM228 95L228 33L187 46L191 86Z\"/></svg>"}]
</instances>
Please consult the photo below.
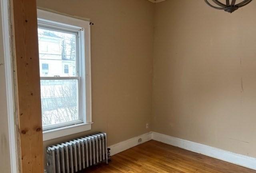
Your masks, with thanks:
<instances>
[{"instance_id":1,"label":"whole white-framed double-hung window, glass included, above the radiator","mask_svg":"<svg viewBox=\"0 0 256 173\"><path fill-rule=\"evenodd\" d=\"M89 22L38 10L38 47L44 140L89 130Z\"/></svg>"}]
</instances>

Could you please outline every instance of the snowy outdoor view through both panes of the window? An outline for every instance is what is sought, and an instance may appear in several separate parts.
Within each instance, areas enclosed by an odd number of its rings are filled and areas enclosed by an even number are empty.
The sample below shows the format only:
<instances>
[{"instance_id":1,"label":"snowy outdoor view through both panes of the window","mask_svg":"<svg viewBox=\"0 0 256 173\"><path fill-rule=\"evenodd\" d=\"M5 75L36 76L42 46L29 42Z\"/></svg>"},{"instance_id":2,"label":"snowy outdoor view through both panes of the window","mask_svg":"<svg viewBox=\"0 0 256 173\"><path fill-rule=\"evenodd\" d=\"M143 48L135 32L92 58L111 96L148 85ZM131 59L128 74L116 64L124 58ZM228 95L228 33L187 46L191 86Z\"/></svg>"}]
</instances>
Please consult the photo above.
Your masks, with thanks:
<instances>
[{"instance_id":1,"label":"snowy outdoor view through both panes of the window","mask_svg":"<svg viewBox=\"0 0 256 173\"><path fill-rule=\"evenodd\" d=\"M38 44L43 127L81 123L78 33L39 26Z\"/></svg>"}]
</instances>

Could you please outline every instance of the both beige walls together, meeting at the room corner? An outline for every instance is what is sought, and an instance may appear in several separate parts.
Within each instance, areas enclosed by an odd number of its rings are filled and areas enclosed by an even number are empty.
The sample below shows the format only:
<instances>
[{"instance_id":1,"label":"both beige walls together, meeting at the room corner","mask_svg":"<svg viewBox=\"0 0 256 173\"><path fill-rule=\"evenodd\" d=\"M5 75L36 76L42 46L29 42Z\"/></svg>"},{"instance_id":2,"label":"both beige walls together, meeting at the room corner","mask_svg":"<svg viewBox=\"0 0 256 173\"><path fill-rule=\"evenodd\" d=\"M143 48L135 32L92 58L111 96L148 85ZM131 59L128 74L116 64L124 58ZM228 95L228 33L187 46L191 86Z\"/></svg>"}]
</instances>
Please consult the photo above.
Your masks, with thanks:
<instances>
[{"instance_id":1,"label":"both beige walls together, meeting at the room corner","mask_svg":"<svg viewBox=\"0 0 256 173\"><path fill-rule=\"evenodd\" d=\"M256 157L255 2L233 14L203 0L38 6L94 22L92 130L44 147L94 131L106 131L112 145L152 130Z\"/></svg>"}]
</instances>

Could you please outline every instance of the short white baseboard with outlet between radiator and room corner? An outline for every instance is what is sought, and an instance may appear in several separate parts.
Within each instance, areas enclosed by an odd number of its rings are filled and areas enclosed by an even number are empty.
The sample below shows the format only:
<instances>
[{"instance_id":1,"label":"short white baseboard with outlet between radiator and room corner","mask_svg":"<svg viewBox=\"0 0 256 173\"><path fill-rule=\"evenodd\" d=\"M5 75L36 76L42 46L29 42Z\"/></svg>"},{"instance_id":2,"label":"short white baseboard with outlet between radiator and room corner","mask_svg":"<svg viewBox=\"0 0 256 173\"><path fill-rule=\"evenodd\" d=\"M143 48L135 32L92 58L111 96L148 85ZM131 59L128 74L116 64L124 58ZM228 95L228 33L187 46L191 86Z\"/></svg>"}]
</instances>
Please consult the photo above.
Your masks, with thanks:
<instances>
[{"instance_id":1,"label":"short white baseboard with outlet between radiator and room corner","mask_svg":"<svg viewBox=\"0 0 256 173\"><path fill-rule=\"evenodd\" d=\"M141 142L138 142L138 139L142 139ZM136 145L142 144L146 141L150 141L152 139L152 132L145 133L143 135L139 135L130 139L127 139L126 141L122 141L119 143L116 143L114 145L109 146L111 155L115 155L117 153L120 153L126 149L135 147Z\"/></svg>"}]
</instances>

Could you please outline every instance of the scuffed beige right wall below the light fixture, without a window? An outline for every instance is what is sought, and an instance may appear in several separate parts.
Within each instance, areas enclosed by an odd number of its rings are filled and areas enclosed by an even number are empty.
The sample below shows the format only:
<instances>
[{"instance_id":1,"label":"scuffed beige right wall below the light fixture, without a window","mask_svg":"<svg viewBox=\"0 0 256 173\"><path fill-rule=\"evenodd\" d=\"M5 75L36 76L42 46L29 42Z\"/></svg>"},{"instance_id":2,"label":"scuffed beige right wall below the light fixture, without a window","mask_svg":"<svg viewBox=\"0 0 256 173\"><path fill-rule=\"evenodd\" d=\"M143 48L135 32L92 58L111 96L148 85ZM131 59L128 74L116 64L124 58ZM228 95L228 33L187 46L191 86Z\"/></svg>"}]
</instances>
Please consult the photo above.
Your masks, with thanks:
<instances>
[{"instance_id":1,"label":"scuffed beige right wall below the light fixture, without a window","mask_svg":"<svg viewBox=\"0 0 256 173\"><path fill-rule=\"evenodd\" d=\"M153 131L256 157L255 9L156 4Z\"/></svg>"}]
</instances>

